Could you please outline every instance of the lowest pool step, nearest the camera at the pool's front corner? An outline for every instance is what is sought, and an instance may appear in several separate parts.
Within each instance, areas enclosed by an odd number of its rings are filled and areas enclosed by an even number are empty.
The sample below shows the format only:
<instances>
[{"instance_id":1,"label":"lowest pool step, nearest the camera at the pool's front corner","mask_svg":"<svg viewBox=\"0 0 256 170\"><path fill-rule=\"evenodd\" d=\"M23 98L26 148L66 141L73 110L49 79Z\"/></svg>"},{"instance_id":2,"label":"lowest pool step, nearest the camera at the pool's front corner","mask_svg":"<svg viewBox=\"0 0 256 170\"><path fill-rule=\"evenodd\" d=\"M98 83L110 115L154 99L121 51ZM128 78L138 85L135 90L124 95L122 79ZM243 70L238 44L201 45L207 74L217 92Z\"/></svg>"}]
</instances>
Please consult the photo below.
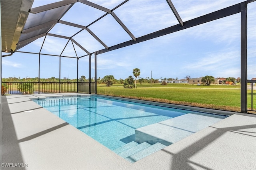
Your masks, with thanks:
<instances>
[{"instance_id":1,"label":"lowest pool step, nearest the camera at the pool's front corner","mask_svg":"<svg viewBox=\"0 0 256 170\"><path fill-rule=\"evenodd\" d=\"M140 150L139 152L136 152L135 154L132 154L128 157L126 157L125 159L134 163L142 158L145 158L146 156L154 153L154 152L157 152L158 150L161 150L162 148L165 148L166 145L164 144L161 144L161 143L156 143L156 144L153 144L143 150Z\"/></svg>"}]
</instances>

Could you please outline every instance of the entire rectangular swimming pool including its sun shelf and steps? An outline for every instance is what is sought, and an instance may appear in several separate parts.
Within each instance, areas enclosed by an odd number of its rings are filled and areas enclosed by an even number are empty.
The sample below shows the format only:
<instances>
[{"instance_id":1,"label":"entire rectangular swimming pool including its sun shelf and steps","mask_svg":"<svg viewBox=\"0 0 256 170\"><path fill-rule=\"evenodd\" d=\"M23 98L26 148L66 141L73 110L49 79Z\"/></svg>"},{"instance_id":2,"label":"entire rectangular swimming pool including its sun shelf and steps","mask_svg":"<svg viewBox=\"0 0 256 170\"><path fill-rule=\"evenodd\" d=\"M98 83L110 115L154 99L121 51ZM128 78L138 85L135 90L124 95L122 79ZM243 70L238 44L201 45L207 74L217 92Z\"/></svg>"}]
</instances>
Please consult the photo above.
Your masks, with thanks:
<instances>
[{"instance_id":1,"label":"entire rectangular swimming pool including its sun shelf and steps","mask_svg":"<svg viewBox=\"0 0 256 170\"><path fill-rule=\"evenodd\" d=\"M95 96L51 97L34 102L130 162L226 118Z\"/></svg>"}]
</instances>

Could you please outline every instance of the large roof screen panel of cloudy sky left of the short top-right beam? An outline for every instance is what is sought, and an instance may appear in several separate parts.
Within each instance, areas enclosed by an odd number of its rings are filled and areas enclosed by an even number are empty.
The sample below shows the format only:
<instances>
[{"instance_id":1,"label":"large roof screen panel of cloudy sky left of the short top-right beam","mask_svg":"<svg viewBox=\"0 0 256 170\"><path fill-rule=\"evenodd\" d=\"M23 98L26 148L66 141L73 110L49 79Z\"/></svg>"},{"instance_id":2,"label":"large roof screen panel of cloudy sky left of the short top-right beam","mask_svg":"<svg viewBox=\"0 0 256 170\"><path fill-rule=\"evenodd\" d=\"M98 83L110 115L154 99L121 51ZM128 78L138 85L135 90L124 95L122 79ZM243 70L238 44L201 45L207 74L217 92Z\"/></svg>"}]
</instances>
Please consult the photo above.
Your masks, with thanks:
<instances>
[{"instance_id":1,"label":"large roof screen panel of cloudy sky left of the short top-right beam","mask_svg":"<svg viewBox=\"0 0 256 170\"><path fill-rule=\"evenodd\" d=\"M178 24L166 1L131 0L114 12L136 37Z\"/></svg>"}]
</instances>

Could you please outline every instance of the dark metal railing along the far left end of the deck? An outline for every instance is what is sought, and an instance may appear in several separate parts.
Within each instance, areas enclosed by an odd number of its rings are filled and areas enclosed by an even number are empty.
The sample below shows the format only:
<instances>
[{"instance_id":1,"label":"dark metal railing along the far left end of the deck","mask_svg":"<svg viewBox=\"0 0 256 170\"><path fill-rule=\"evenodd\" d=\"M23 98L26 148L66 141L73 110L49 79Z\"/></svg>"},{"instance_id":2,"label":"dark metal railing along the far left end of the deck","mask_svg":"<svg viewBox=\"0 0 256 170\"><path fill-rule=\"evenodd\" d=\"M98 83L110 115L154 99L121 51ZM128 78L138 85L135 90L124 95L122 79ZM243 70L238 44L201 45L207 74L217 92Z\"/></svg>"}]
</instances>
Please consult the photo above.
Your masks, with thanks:
<instances>
[{"instance_id":1,"label":"dark metal railing along the far left end of the deck","mask_svg":"<svg viewBox=\"0 0 256 170\"><path fill-rule=\"evenodd\" d=\"M95 93L95 82L2 82L2 95Z\"/></svg>"}]
</instances>

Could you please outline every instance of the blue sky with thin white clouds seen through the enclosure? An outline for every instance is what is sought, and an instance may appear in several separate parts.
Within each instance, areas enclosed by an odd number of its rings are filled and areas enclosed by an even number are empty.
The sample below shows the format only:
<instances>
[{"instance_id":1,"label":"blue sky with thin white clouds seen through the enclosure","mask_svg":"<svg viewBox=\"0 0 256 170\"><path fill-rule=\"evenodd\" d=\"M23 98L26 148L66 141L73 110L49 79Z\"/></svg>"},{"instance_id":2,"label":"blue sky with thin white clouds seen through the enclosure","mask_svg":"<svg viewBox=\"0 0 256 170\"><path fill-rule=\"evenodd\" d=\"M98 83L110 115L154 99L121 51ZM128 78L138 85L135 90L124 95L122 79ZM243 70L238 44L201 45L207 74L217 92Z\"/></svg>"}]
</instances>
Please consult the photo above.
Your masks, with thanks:
<instances>
[{"instance_id":1,"label":"blue sky with thin white clouds seen through the enclosure","mask_svg":"<svg viewBox=\"0 0 256 170\"><path fill-rule=\"evenodd\" d=\"M89 0L90 1L90 0ZM32 7L56 1L34 0ZM112 9L120 0L91 0ZM243 2L241 0L173 0L183 21ZM165 0L130 0L115 14L137 38L169 26L178 24ZM77 2L61 20L87 26L104 12ZM107 15L88 27L106 45L112 46L131 40L130 36ZM72 36L80 29L56 24L52 34ZM44 38L39 38L19 51L39 52ZM89 52L104 47L86 30L74 40ZM60 55L67 40L47 36L42 53ZM75 45L79 56L86 53ZM3 54L4 55L4 54ZM62 55L74 56L72 44L68 43ZM88 57L79 59L78 77L89 77ZM193 28L168 34L146 42L130 45L97 55L97 78L114 75L125 79L132 70L139 68L140 77L159 79L170 77L183 79L212 75L214 77L240 77L240 14L235 14L202 24ZM2 77L38 77L38 55L14 53L2 58ZM40 77L59 77L59 57L41 55ZM61 58L61 78L76 78L76 59ZM92 56L92 77L94 77L94 56ZM256 2L248 4L248 79L256 77Z\"/></svg>"}]
</instances>

